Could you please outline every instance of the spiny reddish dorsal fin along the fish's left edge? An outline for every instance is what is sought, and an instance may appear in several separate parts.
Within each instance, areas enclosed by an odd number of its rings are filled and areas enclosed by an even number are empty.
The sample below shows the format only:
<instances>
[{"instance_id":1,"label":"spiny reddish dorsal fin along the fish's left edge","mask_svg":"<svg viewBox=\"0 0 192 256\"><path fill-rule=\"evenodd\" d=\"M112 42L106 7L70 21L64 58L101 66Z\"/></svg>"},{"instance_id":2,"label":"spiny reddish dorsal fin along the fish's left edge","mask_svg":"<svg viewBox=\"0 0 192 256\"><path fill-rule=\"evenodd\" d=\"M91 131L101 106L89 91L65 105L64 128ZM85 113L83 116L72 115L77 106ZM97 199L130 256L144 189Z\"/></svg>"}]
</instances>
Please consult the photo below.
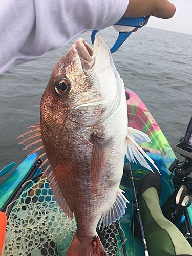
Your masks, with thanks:
<instances>
[{"instance_id":1,"label":"spiny reddish dorsal fin along the fish's left edge","mask_svg":"<svg viewBox=\"0 0 192 256\"><path fill-rule=\"evenodd\" d=\"M44 171L44 176L46 176L50 182L49 186L53 192L53 195L59 205L59 207L65 212L65 214L73 219L73 212L70 210L65 198L63 198L62 193L60 191L59 185L56 181L54 173L51 169L51 165L47 158L44 145L42 143L40 123L30 126L29 128L33 128L28 132L18 136L16 139L25 137L24 140L20 141L19 144L24 144L26 147L23 150L31 151L29 155L36 153L37 157L42 160L41 169Z\"/></svg>"}]
</instances>

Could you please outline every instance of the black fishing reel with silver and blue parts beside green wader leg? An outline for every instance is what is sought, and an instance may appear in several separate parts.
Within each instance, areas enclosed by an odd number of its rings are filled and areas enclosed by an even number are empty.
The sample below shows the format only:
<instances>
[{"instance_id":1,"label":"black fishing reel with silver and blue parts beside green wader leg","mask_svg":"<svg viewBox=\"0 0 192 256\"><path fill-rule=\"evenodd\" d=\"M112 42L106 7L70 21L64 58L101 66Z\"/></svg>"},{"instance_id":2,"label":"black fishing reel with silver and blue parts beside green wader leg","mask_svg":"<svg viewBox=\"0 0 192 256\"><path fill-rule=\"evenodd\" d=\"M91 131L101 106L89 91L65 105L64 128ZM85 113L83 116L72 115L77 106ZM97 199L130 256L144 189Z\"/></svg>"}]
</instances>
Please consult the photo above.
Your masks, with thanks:
<instances>
[{"instance_id":1,"label":"black fishing reel with silver and blue parts beside green wader leg","mask_svg":"<svg viewBox=\"0 0 192 256\"><path fill-rule=\"evenodd\" d=\"M179 162L178 159L175 159L174 162L170 165L169 170L172 172L169 177L169 183L174 188L174 192L161 206L161 210L165 218L173 222L174 225L178 227L189 244L192 246L192 227L186 209L191 204L192 196L192 177L188 177L192 172L192 159L186 158L185 161L182 162ZM173 174L174 177L172 179ZM185 189L185 193L180 192L182 189ZM186 198L188 201L184 200L184 198ZM182 205L182 207L180 207L180 210L177 212L176 208L177 206L179 208L179 205Z\"/></svg>"}]
</instances>

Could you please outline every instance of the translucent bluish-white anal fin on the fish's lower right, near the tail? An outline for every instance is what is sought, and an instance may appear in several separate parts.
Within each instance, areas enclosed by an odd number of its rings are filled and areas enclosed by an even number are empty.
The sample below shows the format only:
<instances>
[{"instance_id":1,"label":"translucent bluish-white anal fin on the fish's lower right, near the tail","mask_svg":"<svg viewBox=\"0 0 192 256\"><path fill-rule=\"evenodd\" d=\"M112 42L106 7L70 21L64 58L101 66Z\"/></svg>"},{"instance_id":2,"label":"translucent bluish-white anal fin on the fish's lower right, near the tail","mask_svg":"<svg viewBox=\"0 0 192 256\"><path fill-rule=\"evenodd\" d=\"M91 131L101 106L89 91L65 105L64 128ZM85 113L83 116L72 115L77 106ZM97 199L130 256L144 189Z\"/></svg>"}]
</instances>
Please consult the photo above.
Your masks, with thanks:
<instances>
[{"instance_id":1,"label":"translucent bluish-white anal fin on the fish's lower right, near the tail","mask_svg":"<svg viewBox=\"0 0 192 256\"><path fill-rule=\"evenodd\" d=\"M101 217L99 228L102 223L103 227L107 227L111 225L112 222L116 222L117 220L119 220L124 215L126 203L129 203L129 201L126 199L123 193L124 191L119 188L115 203L111 207L111 209L104 216Z\"/></svg>"}]
</instances>

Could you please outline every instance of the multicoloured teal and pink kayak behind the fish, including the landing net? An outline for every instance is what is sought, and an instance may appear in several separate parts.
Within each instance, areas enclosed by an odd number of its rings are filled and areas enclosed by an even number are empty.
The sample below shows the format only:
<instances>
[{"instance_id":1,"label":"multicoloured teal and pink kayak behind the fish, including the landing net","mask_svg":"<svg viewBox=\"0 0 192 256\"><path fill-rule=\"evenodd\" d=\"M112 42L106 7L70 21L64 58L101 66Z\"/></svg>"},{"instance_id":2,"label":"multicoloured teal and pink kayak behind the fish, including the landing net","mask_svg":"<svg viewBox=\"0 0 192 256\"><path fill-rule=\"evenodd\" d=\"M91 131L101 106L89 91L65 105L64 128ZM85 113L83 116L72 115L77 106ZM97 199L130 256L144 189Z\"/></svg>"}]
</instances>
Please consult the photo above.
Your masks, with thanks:
<instances>
[{"instance_id":1,"label":"multicoloured teal and pink kayak behind the fish, including the landing net","mask_svg":"<svg viewBox=\"0 0 192 256\"><path fill-rule=\"evenodd\" d=\"M143 143L141 146L162 175L162 205L174 190L169 184L171 172L168 169L176 156L141 99L129 89L125 92L129 126L146 133L151 139L151 143ZM49 182L42 176L41 160L36 158L36 154L29 155L0 185L0 209L6 212L8 218L2 256L66 255L76 230L75 218L69 220L59 208ZM125 158L125 166L127 164ZM9 173L14 165L15 162L2 169L0 177ZM141 178L149 171L136 163L131 163L130 167L137 190ZM120 188L125 191L130 202L125 214L117 223L108 228L101 227L97 232L109 256L142 256L142 240L134 236L132 230L135 198L126 167ZM191 223L191 207L187 208L187 218Z\"/></svg>"}]
</instances>

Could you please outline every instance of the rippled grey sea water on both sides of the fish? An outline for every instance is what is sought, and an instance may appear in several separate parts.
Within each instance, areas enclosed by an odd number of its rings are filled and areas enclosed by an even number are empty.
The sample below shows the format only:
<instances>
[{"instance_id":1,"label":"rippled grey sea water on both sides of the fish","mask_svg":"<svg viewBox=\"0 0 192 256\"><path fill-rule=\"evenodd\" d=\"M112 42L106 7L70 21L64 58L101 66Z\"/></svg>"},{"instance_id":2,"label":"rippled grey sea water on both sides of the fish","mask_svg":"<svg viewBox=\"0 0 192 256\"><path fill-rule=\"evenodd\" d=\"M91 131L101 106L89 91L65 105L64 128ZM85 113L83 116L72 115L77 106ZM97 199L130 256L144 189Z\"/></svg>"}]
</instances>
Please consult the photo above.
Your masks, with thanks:
<instances>
[{"instance_id":1,"label":"rippled grey sea water on both sides of the fish","mask_svg":"<svg viewBox=\"0 0 192 256\"><path fill-rule=\"evenodd\" d=\"M98 33L110 48L117 35L112 27ZM91 32L81 37L91 44ZM0 76L0 169L13 161L18 165L29 153L15 138L39 122L53 67L74 41ZM125 87L141 98L173 148L192 115L192 35L144 27L112 56Z\"/></svg>"}]
</instances>

